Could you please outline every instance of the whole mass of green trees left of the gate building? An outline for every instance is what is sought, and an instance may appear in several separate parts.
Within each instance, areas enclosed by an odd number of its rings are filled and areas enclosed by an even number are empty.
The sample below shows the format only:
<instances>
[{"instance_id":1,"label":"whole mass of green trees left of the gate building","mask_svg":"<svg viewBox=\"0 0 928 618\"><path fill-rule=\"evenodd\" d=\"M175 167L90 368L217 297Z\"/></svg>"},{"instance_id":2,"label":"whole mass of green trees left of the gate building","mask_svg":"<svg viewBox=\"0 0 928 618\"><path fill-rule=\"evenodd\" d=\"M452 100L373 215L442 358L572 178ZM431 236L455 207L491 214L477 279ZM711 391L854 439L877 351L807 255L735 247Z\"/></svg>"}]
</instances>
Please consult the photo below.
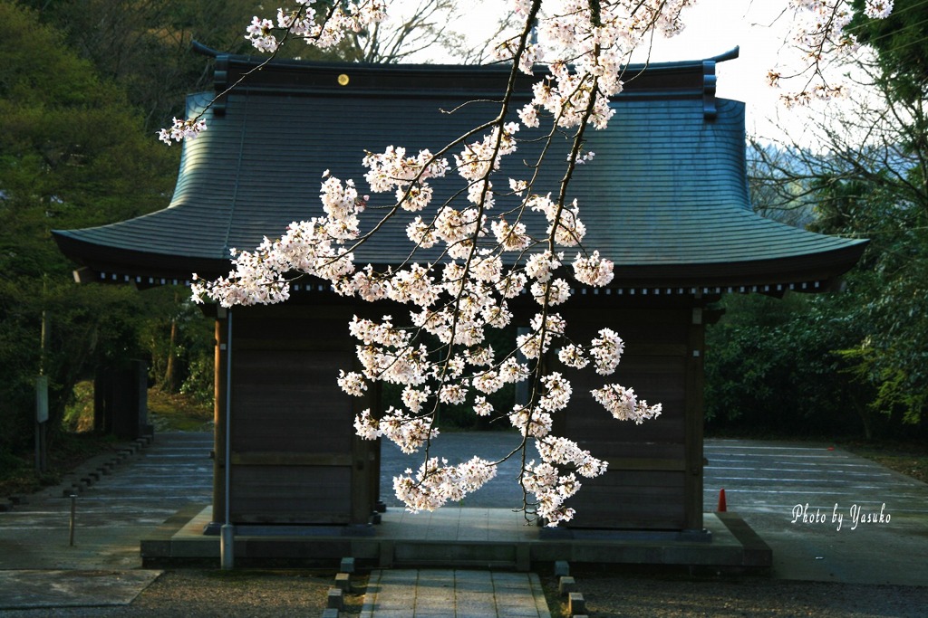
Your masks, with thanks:
<instances>
[{"instance_id":1,"label":"whole mass of green trees left of the gate building","mask_svg":"<svg viewBox=\"0 0 928 618\"><path fill-rule=\"evenodd\" d=\"M213 328L186 290L77 286L50 231L167 204L180 153L154 133L187 93L211 86L191 43L248 53L245 26L265 10L253 0L0 0L0 453L30 447L39 372L53 439L73 386L128 359L147 359L167 391L212 401Z\"/></svg>"}]
</instances>

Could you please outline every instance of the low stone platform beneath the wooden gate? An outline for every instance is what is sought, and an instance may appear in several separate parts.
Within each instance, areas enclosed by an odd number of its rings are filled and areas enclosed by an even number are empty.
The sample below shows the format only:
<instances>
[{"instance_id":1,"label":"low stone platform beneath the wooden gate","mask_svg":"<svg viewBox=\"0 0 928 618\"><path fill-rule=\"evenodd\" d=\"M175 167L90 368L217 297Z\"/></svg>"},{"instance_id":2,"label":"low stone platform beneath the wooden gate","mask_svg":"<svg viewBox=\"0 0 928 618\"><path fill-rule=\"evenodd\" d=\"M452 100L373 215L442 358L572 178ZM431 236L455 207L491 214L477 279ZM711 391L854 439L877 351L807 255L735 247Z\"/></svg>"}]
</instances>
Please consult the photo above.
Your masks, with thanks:
<instances>
[{"instance_id":1,"label":"low stone platform beneath the wooden gate","mask_svg":"<svg viewBox=\"0 0 928 618\"><path fill-rule=\"evenodd\" d=\"M220 544L203 529L209 507L179 511L141 541L145 567L217 562ZM528 571L534 562L699 566L765 570L772 551L736 513L706 513L705 532L689 536L597 535L545 538L520 513L507 509L445 507L416 515L399 509L383 513L374 536L262 534L235 537L238 566L338 565L346 556L367 566L479 567ZM290 528L291 526L288 526Z\"/></svg>"}]
</instances>

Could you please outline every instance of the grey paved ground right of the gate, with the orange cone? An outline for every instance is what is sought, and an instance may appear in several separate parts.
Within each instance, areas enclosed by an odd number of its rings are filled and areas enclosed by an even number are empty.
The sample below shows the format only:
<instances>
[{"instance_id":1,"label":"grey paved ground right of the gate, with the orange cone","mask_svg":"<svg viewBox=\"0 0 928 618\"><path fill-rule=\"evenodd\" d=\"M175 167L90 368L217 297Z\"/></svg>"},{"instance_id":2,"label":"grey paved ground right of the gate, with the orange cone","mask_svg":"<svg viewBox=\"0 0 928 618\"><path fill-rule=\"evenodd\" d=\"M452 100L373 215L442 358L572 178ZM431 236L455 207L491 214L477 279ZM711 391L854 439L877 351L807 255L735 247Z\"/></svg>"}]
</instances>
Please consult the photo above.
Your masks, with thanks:
<instances>
[{"instance_id":1,"label":"grey paved ground right of the gate, with the orange cone","mask_svg":"<svg viewBox=\"0 0 928 618\"><path fill-rule=\"evenodd\" d=\"M780 579L928 586L928 485L828 444L706 440L702 502L773 549ZM928 615L928 612L926 612Z\"/></svg>"}]
</instances>

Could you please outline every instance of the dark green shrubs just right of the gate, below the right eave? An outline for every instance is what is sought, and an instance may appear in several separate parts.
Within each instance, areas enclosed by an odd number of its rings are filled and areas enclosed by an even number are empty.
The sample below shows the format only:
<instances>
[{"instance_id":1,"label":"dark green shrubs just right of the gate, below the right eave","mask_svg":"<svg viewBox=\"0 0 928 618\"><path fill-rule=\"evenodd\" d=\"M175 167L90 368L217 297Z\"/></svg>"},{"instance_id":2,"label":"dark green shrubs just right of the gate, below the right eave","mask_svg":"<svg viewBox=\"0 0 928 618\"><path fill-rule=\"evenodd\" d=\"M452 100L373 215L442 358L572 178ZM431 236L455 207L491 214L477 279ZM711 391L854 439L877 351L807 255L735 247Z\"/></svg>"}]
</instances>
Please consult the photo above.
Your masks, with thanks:
<instances>
[{"instance_id":1,"label":"dark green shrubs just right of the gate, below the right eave","mask_svg":"<svg viewBox=\"0 0 928 618\"><path fill-rule=\"evenodd\" d=\"M707 426L792 435L870 431L859 385L832 350L857 328L834 298L729 296L727 315L706 337Z\"/></svg>"}]
</instances>

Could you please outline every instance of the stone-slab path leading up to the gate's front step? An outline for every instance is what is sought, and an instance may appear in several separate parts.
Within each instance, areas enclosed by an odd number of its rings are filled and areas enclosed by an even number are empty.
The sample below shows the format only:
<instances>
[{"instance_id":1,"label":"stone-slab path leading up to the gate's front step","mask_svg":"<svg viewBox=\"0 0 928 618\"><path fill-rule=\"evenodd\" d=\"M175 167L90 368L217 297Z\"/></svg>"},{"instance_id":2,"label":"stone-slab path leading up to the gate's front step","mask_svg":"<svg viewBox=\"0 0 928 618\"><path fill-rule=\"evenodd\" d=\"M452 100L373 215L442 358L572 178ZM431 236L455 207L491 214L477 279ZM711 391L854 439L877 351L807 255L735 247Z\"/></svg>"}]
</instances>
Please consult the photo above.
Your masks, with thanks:
<instances>
[{"instance_id":1,"label":"stone-slab path leading up to the gate's front step","mask_svg":"<svg viewBox=\"0 0 928 618\"><path fill-rule=\"evenodd\" d=\"M370 574L361 618L549 618L536 574L379 570Z\"/></svg>"}]
</instances>

